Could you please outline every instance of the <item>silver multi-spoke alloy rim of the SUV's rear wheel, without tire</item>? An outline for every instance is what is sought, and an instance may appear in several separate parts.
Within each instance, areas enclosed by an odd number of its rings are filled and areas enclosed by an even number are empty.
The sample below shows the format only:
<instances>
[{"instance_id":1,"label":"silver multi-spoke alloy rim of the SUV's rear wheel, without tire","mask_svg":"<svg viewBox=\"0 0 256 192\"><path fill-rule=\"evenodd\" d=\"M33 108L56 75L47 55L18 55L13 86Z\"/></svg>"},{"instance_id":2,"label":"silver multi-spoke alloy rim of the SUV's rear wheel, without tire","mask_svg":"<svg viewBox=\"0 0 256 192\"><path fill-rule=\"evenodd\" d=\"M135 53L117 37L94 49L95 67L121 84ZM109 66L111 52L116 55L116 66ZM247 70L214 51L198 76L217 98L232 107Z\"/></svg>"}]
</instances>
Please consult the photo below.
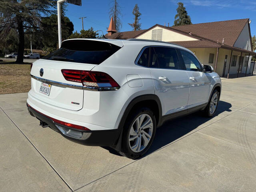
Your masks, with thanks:
<instances>
[{"instance_id":1,"label":"silver multi-spoke alloy rim of the SUV's rear wheel, without tire","mask_svg":"<svg viewBox=\"0 0 256 192\"><path fill-rule=\"evenodd\" d=\"M129 132L129 146L133 152L141 152L148 146L153 134L153 121L148 114L141 114L134 120Z\"/></svg>"}]
</instances>

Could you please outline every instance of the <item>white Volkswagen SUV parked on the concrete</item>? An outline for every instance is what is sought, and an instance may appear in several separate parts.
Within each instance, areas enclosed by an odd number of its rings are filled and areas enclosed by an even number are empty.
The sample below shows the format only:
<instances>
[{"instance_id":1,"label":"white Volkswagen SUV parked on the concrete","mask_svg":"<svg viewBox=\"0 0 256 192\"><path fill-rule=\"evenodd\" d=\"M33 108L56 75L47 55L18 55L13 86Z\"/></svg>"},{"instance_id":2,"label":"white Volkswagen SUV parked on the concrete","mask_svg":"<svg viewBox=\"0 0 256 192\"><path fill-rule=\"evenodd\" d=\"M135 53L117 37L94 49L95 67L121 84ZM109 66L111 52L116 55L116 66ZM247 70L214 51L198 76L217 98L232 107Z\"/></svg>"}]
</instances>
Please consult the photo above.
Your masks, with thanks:
<instances>
[{"instance_id":1,"label":"white Volkswagen SUV parked on the concrete","mask_svg":"<svg viewBox=\"0 0 256 192\"><path fill-rule=\"evenodd\" d=\"M151 40L72 39L34 62L30 114L67 138L136 159L165 120L216 112L221 81L188 49Z\"/></svg>"}]
</instances>

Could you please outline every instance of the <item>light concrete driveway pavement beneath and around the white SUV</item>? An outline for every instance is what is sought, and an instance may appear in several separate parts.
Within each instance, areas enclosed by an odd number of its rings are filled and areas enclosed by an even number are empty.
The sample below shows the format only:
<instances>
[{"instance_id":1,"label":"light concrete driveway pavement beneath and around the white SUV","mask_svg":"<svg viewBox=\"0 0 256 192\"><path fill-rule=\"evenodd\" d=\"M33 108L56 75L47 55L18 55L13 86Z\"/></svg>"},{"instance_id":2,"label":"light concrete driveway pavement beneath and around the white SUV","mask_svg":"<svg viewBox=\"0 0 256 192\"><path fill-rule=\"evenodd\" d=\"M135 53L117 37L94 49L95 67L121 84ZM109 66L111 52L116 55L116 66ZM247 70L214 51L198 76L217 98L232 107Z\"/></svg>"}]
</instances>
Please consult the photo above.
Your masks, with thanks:
<instances>
[{"instance_id":1,"label":"light concrete driveway pavement beneath and around the white SUV","mask_svg":"<svg viewBox=\"0 0 256 192\"><path fill-rule=\"evenodd\" d=\"M140 160L62 137L0 95L0 191L252 191L256 189L256 76L222 80L217 115L166 122Z\"/></svg>"}]
</instances>

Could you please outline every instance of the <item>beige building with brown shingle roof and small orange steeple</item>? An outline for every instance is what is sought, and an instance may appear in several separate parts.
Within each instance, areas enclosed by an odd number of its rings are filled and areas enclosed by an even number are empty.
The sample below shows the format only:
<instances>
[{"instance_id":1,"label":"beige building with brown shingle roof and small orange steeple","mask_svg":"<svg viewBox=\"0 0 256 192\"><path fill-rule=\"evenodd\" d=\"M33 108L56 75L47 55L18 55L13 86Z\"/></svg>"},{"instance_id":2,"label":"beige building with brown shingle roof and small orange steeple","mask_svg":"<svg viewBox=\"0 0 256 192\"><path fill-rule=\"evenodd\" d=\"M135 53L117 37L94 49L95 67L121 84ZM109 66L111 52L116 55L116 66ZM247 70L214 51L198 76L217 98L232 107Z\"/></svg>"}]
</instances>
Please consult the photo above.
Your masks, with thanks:
<instances>
[{"instance_id":1,"label":"beige building with brown shingle roof and small orange steeple","mask_svg":"<svg viewBox=\"0 0 256 192\"><path fill-rule=\"evenodd\" d=\"M147 30L116 32L110 24L106 38L148 39L172 42L190 49L202 64L211 65L222 77L252 74L252 38L249 19L167 27L156 24ZM254 70L255 71L255 70ZM236 75L235 75L236 74Z\"/></svg>"}]
</instances>

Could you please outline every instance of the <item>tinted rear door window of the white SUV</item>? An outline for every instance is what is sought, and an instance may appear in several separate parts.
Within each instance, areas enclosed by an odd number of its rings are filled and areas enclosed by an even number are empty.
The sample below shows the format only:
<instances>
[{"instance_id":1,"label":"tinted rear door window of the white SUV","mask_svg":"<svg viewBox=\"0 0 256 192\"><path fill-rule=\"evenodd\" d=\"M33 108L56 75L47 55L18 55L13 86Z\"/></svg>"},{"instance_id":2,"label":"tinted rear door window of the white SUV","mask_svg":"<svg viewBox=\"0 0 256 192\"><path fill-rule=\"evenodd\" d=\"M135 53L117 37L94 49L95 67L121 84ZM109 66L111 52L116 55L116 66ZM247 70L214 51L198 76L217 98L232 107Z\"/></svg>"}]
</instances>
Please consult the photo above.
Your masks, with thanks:
<instances>
[{"instance_id":1,"label":"tinted rear door window of the white SUV","mask_svg":"<svg viewBox=\"0 0 256 192\"><path fill-rule=\"evenodd\" d=\"M180 69L176 50L174 48L168 48L168 47L152 48L150 67Z\"/></svg>"}]
</instances>

